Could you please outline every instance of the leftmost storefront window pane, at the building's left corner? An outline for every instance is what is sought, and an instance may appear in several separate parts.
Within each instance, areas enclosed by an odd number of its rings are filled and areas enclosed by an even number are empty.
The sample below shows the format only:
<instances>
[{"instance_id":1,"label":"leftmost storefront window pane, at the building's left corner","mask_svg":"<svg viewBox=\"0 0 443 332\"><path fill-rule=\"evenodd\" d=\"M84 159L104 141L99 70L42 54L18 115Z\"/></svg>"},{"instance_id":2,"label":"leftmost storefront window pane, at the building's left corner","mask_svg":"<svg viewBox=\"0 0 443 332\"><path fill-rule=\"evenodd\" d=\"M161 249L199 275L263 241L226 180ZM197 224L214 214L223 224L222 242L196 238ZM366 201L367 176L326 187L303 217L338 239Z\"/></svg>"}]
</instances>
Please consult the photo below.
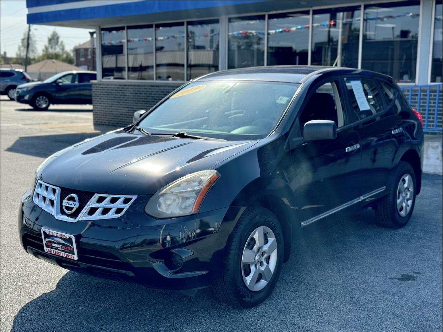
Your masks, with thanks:
<instances>
[{"instance_id":1,"label":"leftmost storefront window pane, at the building's left corner","mask_svg":"<svg viewBox=\"0 0 443 332\"><path fill-rule=\"evenodd\" d=\"M101 29L101 72L103 78L126 78L124 27Z\"/></svg>"}]
</instances>

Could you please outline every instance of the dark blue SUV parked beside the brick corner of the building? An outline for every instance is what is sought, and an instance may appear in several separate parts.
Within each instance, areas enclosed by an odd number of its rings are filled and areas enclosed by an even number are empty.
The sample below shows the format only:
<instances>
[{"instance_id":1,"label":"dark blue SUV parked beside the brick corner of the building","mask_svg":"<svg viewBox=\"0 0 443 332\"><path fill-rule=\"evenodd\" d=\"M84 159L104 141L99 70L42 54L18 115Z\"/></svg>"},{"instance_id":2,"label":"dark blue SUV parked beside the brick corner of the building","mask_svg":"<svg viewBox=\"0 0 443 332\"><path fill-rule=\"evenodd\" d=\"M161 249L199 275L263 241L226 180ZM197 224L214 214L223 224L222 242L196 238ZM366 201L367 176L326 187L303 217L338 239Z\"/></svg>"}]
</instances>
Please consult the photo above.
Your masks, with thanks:
<instances>
[{"instance_id":1,"label":"dark blue SUV parked beside the brick corner of the building","mask_svg":"<svg viewBox=\"0 0 443 332\"><path fill-rule=\"evenodd\" d=\"M95 71L64 71L43 82L17 86L16 101L44 110L51 104L92 104Z\"/></svg>"}]
</instances>

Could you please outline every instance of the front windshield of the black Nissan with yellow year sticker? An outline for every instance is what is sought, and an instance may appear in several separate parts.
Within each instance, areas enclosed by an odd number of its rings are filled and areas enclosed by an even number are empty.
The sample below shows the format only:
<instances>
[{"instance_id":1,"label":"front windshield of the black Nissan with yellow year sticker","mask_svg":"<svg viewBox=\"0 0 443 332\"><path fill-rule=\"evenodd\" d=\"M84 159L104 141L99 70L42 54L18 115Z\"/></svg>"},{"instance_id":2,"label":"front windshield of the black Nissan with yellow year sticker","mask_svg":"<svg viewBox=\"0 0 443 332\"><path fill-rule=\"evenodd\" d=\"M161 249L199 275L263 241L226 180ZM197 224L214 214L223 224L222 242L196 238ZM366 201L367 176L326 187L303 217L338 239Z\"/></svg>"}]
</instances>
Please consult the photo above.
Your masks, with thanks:
<instances>
[{"instance_id":1,"label":"front windshield of the black Nissan with yellow year sticker","mask_svg":"<svg viewBox=\"0 0 443 332\"><path fill-rule=\"evenodd\" d=\"M194 82L159 105L139 126L153 134L263 138L275 128L299 86L257 81Z\"/></svg>"}]
</instances>

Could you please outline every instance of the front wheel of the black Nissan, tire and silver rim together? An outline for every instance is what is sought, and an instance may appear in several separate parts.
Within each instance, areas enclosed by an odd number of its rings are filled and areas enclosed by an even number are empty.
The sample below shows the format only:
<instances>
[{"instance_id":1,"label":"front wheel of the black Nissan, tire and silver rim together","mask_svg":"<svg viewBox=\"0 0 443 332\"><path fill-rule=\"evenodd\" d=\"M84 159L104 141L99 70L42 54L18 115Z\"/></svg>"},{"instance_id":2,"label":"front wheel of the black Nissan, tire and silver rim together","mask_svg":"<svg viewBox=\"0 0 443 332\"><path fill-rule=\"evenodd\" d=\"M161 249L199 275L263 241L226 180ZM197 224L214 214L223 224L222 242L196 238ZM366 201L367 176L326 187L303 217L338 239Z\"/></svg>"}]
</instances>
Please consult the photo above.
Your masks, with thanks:
<instances>
[{"instance_id":1,"label":"front wheel of the black Nissan, tire and silver rim together","mask_svg":"<svg viewBox=\"0 0 443 332\"><path fill-rule=\"evenodd\" d=\"M245 308L266 300L280 275L283 241L280 223L271 211L246 210L226 246L225 270L214 284L216 295Z\"/></svg>"}]
</instances>

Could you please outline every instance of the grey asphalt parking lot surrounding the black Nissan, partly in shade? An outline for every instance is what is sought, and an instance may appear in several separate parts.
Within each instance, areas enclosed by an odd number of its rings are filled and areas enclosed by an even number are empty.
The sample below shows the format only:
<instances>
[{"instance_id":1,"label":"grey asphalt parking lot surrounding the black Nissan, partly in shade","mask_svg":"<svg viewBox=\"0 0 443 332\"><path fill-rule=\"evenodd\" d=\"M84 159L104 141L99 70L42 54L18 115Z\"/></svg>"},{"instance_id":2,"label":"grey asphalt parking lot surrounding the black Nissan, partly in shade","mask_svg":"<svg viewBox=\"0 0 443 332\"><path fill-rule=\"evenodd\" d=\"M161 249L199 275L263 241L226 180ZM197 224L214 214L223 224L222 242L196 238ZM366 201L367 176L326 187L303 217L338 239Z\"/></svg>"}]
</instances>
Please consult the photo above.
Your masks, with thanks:
<instances>
[{"instance_id":1,"label":"grey asphalt parking lot surrounding the black Nissan, partly in shade","mask_svg":"<svg viewBox=\"0 0 443 332\"><path fill-rule=\"evenodd\" d=\"M441 331L442 176L424 175L411 221L377 227L373 211L312 234L283 266L272 295L235 309L211 289L179 292L63 270L26 254L20 197L50 154L97 135L92 106L33 111L0 102L3 331Z\"/></svg>"}]
</instances>

